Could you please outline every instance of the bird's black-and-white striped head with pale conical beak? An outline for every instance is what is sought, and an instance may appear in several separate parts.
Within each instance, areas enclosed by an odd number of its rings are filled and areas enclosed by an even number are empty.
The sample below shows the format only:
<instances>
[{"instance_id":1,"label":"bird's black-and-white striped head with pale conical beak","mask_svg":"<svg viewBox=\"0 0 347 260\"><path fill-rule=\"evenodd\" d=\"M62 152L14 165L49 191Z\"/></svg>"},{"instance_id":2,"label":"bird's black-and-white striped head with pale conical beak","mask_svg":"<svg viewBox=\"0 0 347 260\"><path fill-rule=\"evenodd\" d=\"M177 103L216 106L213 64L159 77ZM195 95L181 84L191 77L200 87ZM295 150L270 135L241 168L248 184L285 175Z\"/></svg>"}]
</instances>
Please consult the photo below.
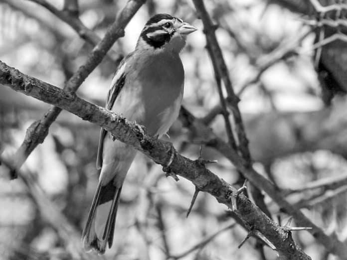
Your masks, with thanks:
<instances>
[{"instance_id":1,"label":"bird's black-and-white striped head with pale conical beak","mask_svg":"<svg viewBox=\"0 0 347 260\"><path fill-rule=\"evenodd\" d=\"M172 50L179 52L186 36L197 29L167 13L159 13L148 20L143 28L137 49Z\"/></svg>"}]
</instances>

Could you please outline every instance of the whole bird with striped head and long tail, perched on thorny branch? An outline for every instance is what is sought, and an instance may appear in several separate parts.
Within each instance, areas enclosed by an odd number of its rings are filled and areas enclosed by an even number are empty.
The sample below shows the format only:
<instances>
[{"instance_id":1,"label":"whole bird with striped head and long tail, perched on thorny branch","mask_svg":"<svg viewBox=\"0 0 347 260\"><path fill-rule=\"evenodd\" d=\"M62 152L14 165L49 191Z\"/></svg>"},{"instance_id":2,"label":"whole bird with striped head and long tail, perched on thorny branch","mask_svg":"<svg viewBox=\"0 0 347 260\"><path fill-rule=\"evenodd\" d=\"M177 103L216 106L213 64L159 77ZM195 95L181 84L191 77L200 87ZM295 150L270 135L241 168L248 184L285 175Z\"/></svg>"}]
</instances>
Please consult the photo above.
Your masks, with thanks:
<instances>
[{"instance_id":1,"label":"whole bird with striped head and long tail, perched on thorny branch","mask_svg":"<svg viewBox=\"0 0 347 260\"><path fill-rule=\"evenodd\" d=\"M179 52L186 36L197 28L167 13L152 16L138 38L135 50L119 64L105 108L136 122L152 136L167 133L178 117L184 89ZM84 249L105 253L112 247L117 208L126 174L136 150L111 133L100 131L96 193L82 233Z\"/></svg>"}]
</instances>

